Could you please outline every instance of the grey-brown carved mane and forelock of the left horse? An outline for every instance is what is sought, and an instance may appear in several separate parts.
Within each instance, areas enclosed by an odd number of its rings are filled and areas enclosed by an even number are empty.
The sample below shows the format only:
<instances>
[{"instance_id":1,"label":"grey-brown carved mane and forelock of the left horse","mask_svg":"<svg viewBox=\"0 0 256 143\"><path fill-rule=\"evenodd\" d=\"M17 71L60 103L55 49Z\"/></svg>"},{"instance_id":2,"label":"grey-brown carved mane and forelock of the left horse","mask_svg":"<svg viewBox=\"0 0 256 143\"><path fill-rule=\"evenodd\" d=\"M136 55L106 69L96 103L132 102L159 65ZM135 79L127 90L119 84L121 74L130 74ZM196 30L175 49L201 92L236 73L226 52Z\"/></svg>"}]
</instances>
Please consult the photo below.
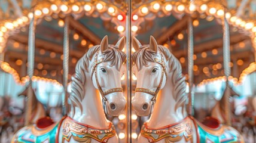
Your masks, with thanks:
<instances>
[{"instance_id":1,"label":"grey-brown carved mane and forelock of the left horse","mask_svg":"<svg viewBox=\"0 0 256 143\"><path fill-rule=\"evenodd\" d=\"M78 107L83 112L81 101L84 99L85 94L85 82L86 73L91 71L92 67L89 67L89 63L94 62L93 56L100 50L100 45L93 46L90 48L86 54L77 62L75 67L75 74L72 76L71 80L71 95L69 99L71 100L72 107ZM104 56L103 62L111 61L111 66L116 66L120 69L124 60L126 60L126 54L120 50L115 45L109 45L109 48L102 52ZM92 61L93 60L93 61Z\"/></svg>"}]
</instances>

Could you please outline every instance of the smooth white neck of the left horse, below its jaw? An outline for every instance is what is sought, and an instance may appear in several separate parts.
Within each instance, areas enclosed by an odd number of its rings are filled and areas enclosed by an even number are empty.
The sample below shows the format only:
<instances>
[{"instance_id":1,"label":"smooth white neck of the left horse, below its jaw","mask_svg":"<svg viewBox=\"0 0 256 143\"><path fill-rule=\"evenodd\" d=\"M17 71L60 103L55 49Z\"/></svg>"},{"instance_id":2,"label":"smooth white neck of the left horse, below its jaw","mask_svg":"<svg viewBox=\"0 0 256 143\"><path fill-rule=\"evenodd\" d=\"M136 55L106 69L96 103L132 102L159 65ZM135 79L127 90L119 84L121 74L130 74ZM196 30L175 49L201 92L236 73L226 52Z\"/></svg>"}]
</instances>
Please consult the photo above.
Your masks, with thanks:
<instances>
[{"instance_id":1,"label":"smooth white neck of the left horse, below its jaw","mask_svg":"<svg viewBox=\"0 0 256 143\"><path fill-rule=\"evenodd\" d=\"M102 108L102 101L100 99L99 91L93 86L89 73L86 73L86 84L84 86L84 99L81 101L83 112L75 107L75 114L72 117L77 122L95 126L97 128L106 128L109 122L106 119L104 110Z\"/></svg>"}]
</instances>

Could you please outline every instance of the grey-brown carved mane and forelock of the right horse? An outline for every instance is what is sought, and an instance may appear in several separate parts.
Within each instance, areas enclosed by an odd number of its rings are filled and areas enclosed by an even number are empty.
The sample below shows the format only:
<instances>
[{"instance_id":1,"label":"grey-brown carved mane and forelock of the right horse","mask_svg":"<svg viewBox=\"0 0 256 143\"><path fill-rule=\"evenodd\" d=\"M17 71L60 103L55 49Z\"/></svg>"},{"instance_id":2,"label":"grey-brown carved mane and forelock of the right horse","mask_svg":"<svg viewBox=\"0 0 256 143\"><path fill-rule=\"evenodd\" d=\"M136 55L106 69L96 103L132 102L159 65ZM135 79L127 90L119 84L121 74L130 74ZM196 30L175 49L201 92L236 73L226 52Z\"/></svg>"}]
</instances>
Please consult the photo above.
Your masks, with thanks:
<instances>
[{"instance_id":1,"label":"grey-brown carved mane and forelock of the right horse","mask_svg":"<svg viewBox=\"0 0 256 143\"><path fill-rule=\"evenodd\" d=\"M184 107L187 101L187 95L185 94L186 83L185 77L182 75L182 67L178 59L162 45L158 45L158 49L166 58L167 64L169 66L168 73L172 73L170 79L172 80L174 91L173 98L176 101L175 110L179 107ZM143 45L138 51L132 54L132 60L135 62L138 70L141 70L143 65L147 65L149 62L155 62L154 56L157 54L149 48L149 45Z\"/></svg>"}]
</instances>

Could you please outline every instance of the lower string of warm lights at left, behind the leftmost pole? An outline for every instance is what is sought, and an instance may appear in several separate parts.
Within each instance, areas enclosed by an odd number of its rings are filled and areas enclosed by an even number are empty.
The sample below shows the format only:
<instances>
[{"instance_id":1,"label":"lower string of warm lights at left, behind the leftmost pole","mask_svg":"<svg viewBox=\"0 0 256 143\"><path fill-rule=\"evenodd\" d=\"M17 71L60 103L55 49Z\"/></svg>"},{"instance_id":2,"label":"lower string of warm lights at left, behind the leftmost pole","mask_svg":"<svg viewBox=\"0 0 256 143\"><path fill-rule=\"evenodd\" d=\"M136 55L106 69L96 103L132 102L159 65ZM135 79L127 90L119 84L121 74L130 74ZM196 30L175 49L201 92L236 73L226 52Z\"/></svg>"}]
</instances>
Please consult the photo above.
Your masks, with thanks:
<instances>
[{"instance_id":1,"label":"lower string of warm lights at left, behind the leftmost pole","mask_svg":"<svg viewBox=\"0 0 256 143\"><path fill-rule=\"evenodd\" d=\"M29 76L25 76L22 77L20 79L19 74L17 73L17 71L15 69L13 69L12 67L10 67L10 64L1 61L0 63L0 67L2 70L4 70L6 73L9 73L13 76L14 81L19 84L24 86L26 84L26 82L29 82ZM53 80L53 79L47 79L44 77L39 77L39 76L32 76L32 82L36 82L36 81L43 81L43 82L48 82L48 83L52 83L54 85L58 85L58 86L62 86L61 83L57 82L57 80Z\"/></svg>"}]
</instances>

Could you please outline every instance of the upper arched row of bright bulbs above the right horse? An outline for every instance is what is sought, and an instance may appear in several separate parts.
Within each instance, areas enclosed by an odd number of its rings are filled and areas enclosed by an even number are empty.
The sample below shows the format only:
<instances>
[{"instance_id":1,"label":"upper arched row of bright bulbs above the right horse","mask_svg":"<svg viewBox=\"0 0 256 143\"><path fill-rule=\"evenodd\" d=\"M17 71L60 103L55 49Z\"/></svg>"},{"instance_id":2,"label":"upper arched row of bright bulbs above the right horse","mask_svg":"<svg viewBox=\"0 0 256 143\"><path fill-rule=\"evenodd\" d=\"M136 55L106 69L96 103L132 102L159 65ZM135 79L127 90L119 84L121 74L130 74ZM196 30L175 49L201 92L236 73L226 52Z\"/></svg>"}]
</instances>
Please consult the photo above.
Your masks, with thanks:
<instances>
[{"instance_id":1,"label":"upper arched row of bright bulbs above the right horse","mask_svg":"<svg viewBox=\"0 0 256 143\"><path fill-rule=\"evenodd\" d=\"M217 18L222 18L225 17L227 18L228 22L230 24L233 24L236 27L242 27L245 30L248 30L249 32L253 33L254 39L253 43L256 48L256 25L254 21L245 21L242 20L239 17L236 17L234 15L231 15L231 13L224 13L224 8L221 6L221 4L217 4L214 2L208 2L207 4L200 4L197 5L194 2L190 2L190 4L183 4L181 2L151 2L151 4L146 4L143 5L142 7L139 8L139 10L136 13L143 15L147 15L152 11L153 13L157 13L159 10L162 10L164 12L167 12L166 15L170 13L170 11L175 11L176 13L182 14L182 13L189 13L192 14L195 11L200 13L201 15L207 14L207 18L211 18L208 21L211 21L214 17ZM194 26L199 25L198 20L193 21ZM182 39L182 36L179 35L180 38Z\"/></svg>"}]
</instances>

